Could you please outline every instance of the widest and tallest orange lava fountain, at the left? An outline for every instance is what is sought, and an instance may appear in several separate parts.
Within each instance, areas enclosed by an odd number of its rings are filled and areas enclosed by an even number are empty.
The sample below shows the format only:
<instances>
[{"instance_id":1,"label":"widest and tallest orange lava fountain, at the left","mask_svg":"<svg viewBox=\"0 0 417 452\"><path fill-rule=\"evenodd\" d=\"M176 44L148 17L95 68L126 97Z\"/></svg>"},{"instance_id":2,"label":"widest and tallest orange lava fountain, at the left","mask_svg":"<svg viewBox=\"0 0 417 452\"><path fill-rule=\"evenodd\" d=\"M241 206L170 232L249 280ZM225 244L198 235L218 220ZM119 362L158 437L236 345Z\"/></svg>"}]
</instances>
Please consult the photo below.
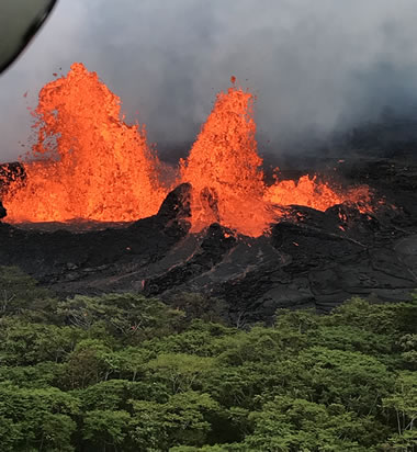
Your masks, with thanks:
<instances>
[{"instance_id":1,"label":"widest and tallest orange lava fountain, at the left","mask_svg":"<svg viewBox=\"0 0 417 452\"><path fill-rule=\"evenodd\" d=\"M81 64L41 90L26 180L3 197L9 222L123 222L158 211L158 160L145 131L120 120L120 104Z\"/></svg>"}]
</instances>

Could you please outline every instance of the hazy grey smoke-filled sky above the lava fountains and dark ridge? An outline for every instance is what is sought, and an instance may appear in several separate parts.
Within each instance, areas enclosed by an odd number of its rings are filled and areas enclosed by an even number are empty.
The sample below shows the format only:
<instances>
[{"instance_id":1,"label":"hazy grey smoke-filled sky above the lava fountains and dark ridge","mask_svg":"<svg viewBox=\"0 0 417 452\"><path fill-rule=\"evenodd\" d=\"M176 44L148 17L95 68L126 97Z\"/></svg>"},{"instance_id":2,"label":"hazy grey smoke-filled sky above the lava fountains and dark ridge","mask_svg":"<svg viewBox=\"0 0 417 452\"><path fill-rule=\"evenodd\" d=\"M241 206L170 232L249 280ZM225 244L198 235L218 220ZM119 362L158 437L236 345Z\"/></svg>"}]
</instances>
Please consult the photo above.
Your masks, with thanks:
<instances>
[{"instance_id":1,"label":"hazy grey smoke-filled sky above the lava fountains and dark ridge","mask_svg":"<svg viewBox=\"0 0 417 452\"><path fill-rule=\"evenodd\" d=\"M414 104L416 23L415 0L59 0L0 76L0 161L27 149L27 108L74 61L151 143L192 140L234 75L257 95L259 137L278 154L305 131Z\"/></svg>"}]
</instances>

